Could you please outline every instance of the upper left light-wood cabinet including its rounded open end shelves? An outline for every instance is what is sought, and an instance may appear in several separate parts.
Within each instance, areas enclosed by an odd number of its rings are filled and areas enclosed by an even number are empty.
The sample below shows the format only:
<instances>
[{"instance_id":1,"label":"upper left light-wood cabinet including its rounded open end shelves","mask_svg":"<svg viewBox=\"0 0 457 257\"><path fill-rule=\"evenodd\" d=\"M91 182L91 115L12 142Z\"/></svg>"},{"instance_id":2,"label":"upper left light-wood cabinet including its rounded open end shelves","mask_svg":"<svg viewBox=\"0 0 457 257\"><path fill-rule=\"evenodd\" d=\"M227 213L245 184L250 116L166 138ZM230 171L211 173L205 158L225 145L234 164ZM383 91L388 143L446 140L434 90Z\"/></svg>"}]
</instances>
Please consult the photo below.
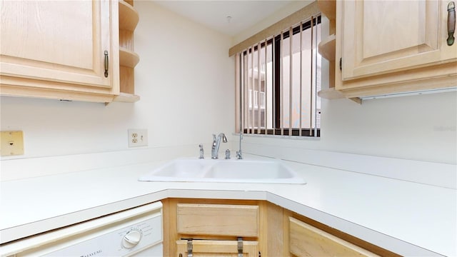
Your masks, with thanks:
<instances>
[{"instance_id":1,"label":"upper left light-wood cabinet including its rounded open end shelves","mask_svg":"<svg viewBox=\"0 0 457 257\"><path fill-rule=\"evenodd\" d=\"M133 1L0 1L2 96L137 101ZM119 46L121 41L121 47Z\"/></svg>"}]
</instances>

